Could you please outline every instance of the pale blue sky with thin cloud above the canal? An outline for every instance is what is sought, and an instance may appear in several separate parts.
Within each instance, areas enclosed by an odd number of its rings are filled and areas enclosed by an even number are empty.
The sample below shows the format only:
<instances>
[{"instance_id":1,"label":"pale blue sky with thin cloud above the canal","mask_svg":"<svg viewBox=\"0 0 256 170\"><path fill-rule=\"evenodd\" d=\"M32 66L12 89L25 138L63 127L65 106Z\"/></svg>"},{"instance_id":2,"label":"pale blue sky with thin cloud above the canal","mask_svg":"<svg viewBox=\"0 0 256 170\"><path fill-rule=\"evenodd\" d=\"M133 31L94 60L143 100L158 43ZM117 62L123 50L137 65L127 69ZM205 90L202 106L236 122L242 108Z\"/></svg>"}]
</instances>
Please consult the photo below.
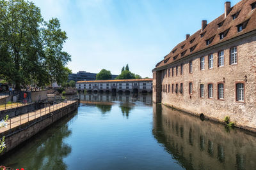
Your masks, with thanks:
<instances>
[{"instance_id":1,"label":"pale blue sky with thin cloud above the canal","mask_svg":"<svg viewBox=\"0 0 256 170\"><path fill-rule=\"evenodd\" d=\"M223 0L32 0L45 20L58 18L73 73L132 73L152 78L157 62L178 43L224 13ZM231 6L239 0L232 0Z\"/></svg>"}]
</instances>

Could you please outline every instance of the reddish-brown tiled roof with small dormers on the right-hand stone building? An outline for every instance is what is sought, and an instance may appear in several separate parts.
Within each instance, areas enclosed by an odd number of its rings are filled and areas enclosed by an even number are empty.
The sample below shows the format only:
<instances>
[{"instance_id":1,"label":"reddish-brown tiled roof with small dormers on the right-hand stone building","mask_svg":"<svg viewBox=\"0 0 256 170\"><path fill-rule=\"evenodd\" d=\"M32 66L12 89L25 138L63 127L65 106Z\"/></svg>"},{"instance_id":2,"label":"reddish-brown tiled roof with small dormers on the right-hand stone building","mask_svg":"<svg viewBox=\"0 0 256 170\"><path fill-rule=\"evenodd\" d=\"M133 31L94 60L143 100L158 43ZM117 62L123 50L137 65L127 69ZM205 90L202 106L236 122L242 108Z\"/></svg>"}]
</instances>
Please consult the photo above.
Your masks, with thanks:
<instances>
[{"instance_id":1,"label":"reddish-brown tiled roof with small dormers on the right-hand stone building","mask_svg":"<svg viewBox=\"0 0 256 170\"><path fill-rule=\"evenodd\" d=\"M188 39L175 46L175 48L173 48L173 50L166 55L161 62L156 64L156 68L166 66L176 60L209 48L210 46L217 45L223 41L254 31L256 29L256 9L252 10L251 4L255 2L256 0L240 1L231 8L231 11L228 13L226 18L225 14L221 15L207 24L204 30L200 29ZM237 13L237 18L233 20L232 16ZM237 32L237 25L243 23L246 24L247 21L248 24L243 31ZM221 25L221 27L219 27L219 25ZM223 39L220 39L221 33L225 34ZM201 37L201 35L203 35L203 37ZM209 45L206 44L207 40L211 41Z\"/></svg>"}]
</instances>

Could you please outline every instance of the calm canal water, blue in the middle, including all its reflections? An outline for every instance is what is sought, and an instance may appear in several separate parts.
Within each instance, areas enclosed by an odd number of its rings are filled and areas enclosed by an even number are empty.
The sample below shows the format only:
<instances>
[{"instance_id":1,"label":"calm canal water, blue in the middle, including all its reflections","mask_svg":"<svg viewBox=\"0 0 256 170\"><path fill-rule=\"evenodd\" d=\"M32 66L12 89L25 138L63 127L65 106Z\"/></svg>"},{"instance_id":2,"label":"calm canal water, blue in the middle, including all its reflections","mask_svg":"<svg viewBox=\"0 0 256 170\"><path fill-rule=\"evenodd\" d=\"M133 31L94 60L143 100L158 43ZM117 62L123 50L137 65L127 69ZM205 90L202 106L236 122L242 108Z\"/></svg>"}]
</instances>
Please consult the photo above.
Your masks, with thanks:
<instances>
[{"instance_id":1,"label":"calm canal water, blue in the middle, including all its reflections","mask_svg":"<svg viewBox=\"0 0 256 170\"><path fill-rule=\"evenodd\" d=\"M25 169L256 169L250 132L186 115L150 95L86 94L68 117L0 160Z\"/></svg>"}]
</instances>

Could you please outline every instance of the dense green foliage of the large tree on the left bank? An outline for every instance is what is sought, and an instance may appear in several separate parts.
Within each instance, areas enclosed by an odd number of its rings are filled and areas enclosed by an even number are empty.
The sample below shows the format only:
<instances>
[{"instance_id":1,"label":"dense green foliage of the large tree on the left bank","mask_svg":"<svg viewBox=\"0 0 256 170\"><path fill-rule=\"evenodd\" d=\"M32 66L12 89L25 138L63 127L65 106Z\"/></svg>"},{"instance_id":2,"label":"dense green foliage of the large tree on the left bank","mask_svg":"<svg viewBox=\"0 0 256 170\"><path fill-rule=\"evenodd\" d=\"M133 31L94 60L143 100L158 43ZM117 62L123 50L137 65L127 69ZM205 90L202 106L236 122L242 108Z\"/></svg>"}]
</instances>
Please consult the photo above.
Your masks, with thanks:
<instances>
[{"instance_id":1,"label":"dense green foliage of the large tree on the left bank","mask_svg":"<svg viewBox=\"0 0 256 170\"><path fill-rule=\"evenodd\" d=\"M67 81L71 57L62 50L66 40L59 20L45 22L35 4L0 1L0 76L15 83L15 89Z\"/></svg>"}]
</instances>

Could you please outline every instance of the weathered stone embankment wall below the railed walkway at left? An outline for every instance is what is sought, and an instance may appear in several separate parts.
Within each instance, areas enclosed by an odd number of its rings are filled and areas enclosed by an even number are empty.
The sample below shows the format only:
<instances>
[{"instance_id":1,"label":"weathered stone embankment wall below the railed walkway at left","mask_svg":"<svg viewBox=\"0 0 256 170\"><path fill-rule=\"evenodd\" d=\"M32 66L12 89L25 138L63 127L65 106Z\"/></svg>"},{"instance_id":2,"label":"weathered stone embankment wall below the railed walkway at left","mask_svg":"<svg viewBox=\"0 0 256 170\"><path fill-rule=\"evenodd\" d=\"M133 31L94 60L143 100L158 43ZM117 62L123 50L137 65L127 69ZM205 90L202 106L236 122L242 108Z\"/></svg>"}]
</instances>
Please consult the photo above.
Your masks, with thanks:
<instances>
[{"instance_id":1,"label":"weathered stone embankment wall below the railed walkway at left","mask_svg":"<svg viewBox=\"0 0 256 170\"><path fill-rule=\"evenodd\" d=\"M0 157L3 156L4 153L7 153L16 146L20 145L22 142L28 140L36 133L42 131L45 129L45 127L53 124L68 113L75 111L77 106L78 102L70 104L59 110L52 111L52 113L27 122L26 124L19 125L18 127L1 133L1 138L2 136L5 136L5 143L7 147L4 149L4 152L0 153Z\"/></svg>"}]
</instances>

